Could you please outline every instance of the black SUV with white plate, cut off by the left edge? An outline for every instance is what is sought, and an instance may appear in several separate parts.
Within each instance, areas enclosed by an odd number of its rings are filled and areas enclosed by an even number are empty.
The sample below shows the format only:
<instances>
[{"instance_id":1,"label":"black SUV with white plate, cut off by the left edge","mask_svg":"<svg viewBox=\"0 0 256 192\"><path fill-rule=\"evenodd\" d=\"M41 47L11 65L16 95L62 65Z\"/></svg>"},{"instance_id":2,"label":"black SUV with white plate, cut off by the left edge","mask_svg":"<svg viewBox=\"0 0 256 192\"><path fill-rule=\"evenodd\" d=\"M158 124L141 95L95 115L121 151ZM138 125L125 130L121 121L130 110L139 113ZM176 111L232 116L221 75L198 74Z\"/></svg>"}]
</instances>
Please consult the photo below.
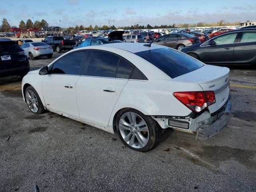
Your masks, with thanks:
<instances>
[{"instance_id":1,"label":"black SUV with white plate, cut off by the left edge","mask_svg":"<svg viewBox=\"0 0 256 192\"><path fill-rule=\"evenodd\" d=\"M30 70L28 57L15 41L0 39L0 77L25 76Z\"/></svg>"}]
</instances>

